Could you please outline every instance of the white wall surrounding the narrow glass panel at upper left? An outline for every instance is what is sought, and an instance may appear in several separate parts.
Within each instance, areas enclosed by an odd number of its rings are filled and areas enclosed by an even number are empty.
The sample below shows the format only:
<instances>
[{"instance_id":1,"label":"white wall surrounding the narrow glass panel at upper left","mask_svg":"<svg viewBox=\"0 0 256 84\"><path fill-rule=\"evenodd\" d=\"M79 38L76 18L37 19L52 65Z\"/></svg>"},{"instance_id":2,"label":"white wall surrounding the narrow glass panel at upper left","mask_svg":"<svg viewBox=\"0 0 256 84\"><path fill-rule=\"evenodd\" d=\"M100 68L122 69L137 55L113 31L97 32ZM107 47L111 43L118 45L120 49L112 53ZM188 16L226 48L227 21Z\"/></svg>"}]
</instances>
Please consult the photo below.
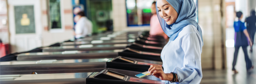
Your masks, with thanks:
<instances>
[{"instance_id":1,"label":"white wall surrounding the narrow glass panel at upper left","mask_svg":"<svg viewBox=\"0 0 256 84\"><path fill-rule=\"evenodd\" d=\"M49 46L57 42L63 42L73 38L73 16L72 16L72 3L71 0L61 0L61 19L62 30L51 31L49 30L48 17L47 17L47 4L46 0L41 0L42 5L42 45Z\"/></svg>"}]
</instances>

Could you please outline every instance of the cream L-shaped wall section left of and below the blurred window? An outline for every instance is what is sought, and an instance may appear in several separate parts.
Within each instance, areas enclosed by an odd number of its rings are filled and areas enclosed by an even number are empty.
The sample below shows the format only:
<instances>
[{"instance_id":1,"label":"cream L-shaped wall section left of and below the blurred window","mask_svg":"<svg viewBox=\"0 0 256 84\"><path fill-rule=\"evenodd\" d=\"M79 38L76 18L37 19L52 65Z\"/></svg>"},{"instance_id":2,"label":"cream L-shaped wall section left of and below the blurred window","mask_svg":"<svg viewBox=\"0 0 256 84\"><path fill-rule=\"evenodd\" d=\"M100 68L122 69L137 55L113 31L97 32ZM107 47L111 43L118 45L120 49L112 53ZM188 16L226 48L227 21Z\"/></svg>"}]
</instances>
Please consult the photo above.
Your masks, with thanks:
<instances>
[{"instance_id":1,"label":"cream L-shaped wall section left of and below the blurred window","mask_svg":"<svg viewBox=\"0 0 256 84\"><path fill-rule=\"evenodd\" d=\"M149 26L127 26L126 0L112 0L112 6L114 31L141 31L150 29Z\"/></svg>"}]
</instances>

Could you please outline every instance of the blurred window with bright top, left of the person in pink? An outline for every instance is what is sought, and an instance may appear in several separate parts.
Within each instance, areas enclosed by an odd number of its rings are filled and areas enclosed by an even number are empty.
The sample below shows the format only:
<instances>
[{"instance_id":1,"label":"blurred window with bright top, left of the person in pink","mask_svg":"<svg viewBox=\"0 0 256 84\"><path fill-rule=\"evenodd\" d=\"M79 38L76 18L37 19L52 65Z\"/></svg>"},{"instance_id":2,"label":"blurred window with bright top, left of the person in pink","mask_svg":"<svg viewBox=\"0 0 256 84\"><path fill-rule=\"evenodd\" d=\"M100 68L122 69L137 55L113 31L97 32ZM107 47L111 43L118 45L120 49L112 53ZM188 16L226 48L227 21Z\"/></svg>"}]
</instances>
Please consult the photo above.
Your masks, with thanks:
<instances>
[{"instance_id":1,"label":"blurred window with bright top, left of the person in pink","mask_svg":"<svg viewBox=\"0 0 256 84\"><path fill-rule=\"evenodd\" d=\"M126 0L128 26L149 25L155 0Z\"/></svg>"}]
</instances>

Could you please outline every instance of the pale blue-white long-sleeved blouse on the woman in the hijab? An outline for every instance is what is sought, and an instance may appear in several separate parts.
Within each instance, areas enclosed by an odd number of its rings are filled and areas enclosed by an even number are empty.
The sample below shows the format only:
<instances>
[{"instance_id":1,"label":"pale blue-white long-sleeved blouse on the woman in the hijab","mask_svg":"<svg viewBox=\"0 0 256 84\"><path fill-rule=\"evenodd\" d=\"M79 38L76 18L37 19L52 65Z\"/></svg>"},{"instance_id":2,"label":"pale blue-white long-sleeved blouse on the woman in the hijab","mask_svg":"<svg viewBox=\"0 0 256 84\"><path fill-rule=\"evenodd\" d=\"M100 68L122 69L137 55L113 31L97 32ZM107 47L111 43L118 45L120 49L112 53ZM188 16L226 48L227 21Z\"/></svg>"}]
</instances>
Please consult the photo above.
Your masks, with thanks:
<instances>
[{"instance_id":1,"label":"pale blue-white long-sleeved blouse on the woman in the hijab","mask_svg":"<svg viewBox=\"0 0 256 84\"><path fill-rule=\"evenodd\" d=\"M177 38L169 41L161 52L164 72L176 73L179 80L177 84L199 84L202 79L202 46L197 28L192 24L185 26ZM164 82L171 84L169 81Z\"/></svg>"}]
</instances>

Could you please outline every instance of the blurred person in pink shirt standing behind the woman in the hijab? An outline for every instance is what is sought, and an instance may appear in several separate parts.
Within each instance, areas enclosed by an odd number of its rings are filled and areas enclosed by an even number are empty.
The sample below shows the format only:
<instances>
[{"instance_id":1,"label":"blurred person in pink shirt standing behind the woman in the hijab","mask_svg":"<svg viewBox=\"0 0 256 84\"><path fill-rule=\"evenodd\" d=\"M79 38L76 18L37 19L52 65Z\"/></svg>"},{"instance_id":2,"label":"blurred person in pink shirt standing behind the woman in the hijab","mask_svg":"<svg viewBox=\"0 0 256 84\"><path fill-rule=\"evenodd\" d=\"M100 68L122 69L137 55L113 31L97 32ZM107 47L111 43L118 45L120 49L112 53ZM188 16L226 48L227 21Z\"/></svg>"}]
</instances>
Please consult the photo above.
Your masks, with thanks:
<instances>
[{"instance_id":1,"label":"blurred person in pink shirt standing behind the woman in the hijab","mask_svg":"<svg viewBox=\"0 0 256 84\"><path fill-rule=\"evenodd\" d=\"M154 1L152 3L152 6L151 6L151 13L153 14L151 19L150 19L150 31L149 31L149 34L150 35L153 35L153 36L163 36L165 39L168 38L168 36L164 33L159 21L158 21L158 18L157 18L157 15L156 15L156 1Z\"/></svg>"}]
</instances>

